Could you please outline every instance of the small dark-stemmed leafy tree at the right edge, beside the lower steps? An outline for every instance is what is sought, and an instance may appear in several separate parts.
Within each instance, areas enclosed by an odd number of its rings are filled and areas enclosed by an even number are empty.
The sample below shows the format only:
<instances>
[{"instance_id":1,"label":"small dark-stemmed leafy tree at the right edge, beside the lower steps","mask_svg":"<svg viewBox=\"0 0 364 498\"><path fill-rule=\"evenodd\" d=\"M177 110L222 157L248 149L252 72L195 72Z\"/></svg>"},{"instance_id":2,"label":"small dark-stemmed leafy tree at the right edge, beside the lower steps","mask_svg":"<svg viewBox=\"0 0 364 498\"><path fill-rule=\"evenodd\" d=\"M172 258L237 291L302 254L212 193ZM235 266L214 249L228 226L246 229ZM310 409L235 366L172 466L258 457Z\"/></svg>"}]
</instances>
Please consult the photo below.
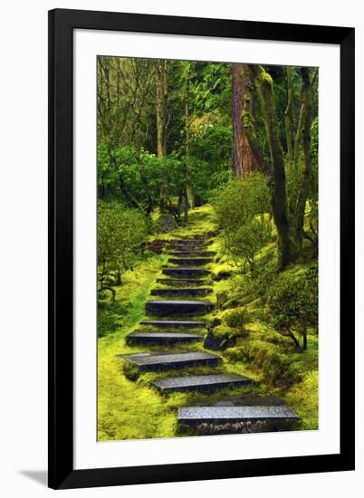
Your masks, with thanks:
<instances>
[{"instance_id":1,"label":"small dark-stemmed leafy tree at the right edge, beside the lower steps","mask_svg":"<svg viewBox=\"0 0 364 498\"><path fill-rule=\"evenodd\" d=\"M309 327L318 327L318 268L311 267L299 275L281 275L269 292L267 311L273 327L290 337L301 348L297 334L302 336L302 350L307 350Z\"/></svg>"}]
</instances>

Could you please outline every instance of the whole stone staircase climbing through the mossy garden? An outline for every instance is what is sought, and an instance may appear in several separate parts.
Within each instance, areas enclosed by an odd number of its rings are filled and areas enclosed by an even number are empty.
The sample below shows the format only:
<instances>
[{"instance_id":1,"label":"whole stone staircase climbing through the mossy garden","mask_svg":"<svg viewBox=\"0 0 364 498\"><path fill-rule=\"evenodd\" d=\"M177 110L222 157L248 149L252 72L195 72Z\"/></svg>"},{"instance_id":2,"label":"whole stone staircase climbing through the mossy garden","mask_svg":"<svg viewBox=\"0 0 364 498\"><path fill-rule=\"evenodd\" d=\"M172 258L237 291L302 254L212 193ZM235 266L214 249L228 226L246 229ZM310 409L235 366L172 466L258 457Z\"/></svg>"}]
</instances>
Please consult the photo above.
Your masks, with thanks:
<instances>
[{"instance_id":1,"label":"whole stone staircase climbing through the mossy garden","mask_svg":"<svg viewBox=\"0 0 364 498\"><path fill-rule=\"evenodd\" d=\"M150 292L152 299L146 302L148 320L140 321L142 329L127 336L130 345L148 346L145 352L127 355L129 367L140 372L170 371L170 376L150 381L161 395L187 391L206 395L254 385L251 378L222 372L223 361L218 354L196 348L179 350L181 344L188 346L205 339L207 321L203 317L214 307L208 300L213 292L209 264L214 255L206 250L204 236L170 241L168 266L162 268L165 277L157 279L158 288ZM155 345L168 349L153 350ZM196 375L196 371L188 373L190 368L203 371ZM179 376L178 370L182 370ZM206 401L205 396L199 405L180 407L177 412L179 429L196 435L287 430L297 420L296 412L282 400L264 397L250 401L244 396L211 397Z\"/></svg>"}]
</instances>

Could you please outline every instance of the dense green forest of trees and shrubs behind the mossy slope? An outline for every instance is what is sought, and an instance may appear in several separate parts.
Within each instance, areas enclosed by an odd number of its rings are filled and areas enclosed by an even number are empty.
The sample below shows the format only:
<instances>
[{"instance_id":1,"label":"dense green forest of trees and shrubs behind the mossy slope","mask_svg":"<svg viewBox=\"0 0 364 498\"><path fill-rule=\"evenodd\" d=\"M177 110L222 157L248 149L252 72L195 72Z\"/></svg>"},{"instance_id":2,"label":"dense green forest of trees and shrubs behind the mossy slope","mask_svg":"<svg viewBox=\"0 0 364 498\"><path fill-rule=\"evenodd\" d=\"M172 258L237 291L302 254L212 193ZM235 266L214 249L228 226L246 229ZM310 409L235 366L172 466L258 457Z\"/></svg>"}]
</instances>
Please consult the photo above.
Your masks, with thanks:
<instances>
[{"instance_id":1,"label":"dense green forest of trees and shrubs behind the mossy slope","mask_svg":"<svg viewBox=\"0 0 364 498\"><path fill-rule=\"evenodd\" d=\"M242 205L254 186L269 224ZM248 266L254 249L239 237L257 250L271 222L279 269L300 260L304 239L317 253L318 70L99 57L98 190L101 204L144 215L149 232L153 213L186 224L190 208L215 202Z\"/></svg>"}]
</instances>

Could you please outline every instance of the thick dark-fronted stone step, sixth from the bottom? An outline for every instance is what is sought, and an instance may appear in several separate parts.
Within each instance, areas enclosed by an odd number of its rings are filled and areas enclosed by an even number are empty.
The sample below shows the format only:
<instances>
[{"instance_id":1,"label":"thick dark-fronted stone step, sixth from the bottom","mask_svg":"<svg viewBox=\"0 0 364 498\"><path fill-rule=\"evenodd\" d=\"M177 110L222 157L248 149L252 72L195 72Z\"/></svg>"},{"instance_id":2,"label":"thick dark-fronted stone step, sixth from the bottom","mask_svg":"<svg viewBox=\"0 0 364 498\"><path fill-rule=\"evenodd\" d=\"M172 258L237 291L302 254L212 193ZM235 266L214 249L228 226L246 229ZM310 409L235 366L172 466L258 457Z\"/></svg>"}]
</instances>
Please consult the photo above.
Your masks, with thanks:
<instances>
[{"instance_id":1,"label":"thick dark-fronted stone step, sixth from the bottom","mask_svg":"<svg viewBox=\"0 0 364 498\"><path fill-rule=\"evenodd\" d=\"M153 316L203 315L213 309L209 301L147 301L146 312Z\"/></svg>"}]
</instances>

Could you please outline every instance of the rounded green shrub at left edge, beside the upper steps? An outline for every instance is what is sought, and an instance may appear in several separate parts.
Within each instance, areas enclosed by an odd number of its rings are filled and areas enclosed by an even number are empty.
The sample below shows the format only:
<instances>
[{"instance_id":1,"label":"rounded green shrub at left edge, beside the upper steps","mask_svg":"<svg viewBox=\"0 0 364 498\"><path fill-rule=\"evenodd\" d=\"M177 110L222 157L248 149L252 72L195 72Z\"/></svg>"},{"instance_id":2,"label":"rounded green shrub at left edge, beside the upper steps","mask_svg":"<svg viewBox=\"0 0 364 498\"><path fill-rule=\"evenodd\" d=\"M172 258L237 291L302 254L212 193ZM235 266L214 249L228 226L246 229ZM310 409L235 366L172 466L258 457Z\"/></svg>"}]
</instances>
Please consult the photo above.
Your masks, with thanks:
<instances>
[{"instance_id":1,"label":"rounded green shrub at left edge, beside the upper steps","mask_svg":"<svg viewBox=\"0 0 364 498\"><path fill-rule=\"evenodd\" d=\"M140 254L148 235L145 216L136 209L127 209L117 202L98 204L98 262L100 289L114 273L130 268Z\"/></svg>"}]
</instances>

